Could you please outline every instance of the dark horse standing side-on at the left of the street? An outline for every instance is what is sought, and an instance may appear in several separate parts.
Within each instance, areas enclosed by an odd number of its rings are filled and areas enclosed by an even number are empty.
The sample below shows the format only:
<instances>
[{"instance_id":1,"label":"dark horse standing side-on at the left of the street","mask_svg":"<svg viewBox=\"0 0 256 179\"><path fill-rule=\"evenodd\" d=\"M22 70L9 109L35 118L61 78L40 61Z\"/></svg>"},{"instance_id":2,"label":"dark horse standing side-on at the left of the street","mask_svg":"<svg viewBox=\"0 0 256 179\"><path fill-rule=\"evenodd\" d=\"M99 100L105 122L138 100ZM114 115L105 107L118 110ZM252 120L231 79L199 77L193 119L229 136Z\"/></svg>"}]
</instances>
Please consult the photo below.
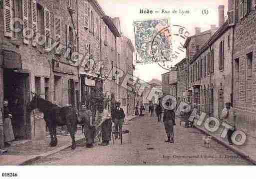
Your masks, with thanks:
<instances>
[{"instance_id":1,"label":"dark horse standing side-on at the left of the street","mask_svg":"<svg viewBox=\"0 0 256 179\"><path fill-rule=\"evenodd\" d=\"M50 147L57 146L56 127L67 126L67 130L72 139L71 149L75 149L75 133L77 131L77 111L72 106L58 107L55 104L34 95L32 101L28 104L28 112L38 108L44 115L44 121L50 132Z\"/></svg>"}]
</instances>

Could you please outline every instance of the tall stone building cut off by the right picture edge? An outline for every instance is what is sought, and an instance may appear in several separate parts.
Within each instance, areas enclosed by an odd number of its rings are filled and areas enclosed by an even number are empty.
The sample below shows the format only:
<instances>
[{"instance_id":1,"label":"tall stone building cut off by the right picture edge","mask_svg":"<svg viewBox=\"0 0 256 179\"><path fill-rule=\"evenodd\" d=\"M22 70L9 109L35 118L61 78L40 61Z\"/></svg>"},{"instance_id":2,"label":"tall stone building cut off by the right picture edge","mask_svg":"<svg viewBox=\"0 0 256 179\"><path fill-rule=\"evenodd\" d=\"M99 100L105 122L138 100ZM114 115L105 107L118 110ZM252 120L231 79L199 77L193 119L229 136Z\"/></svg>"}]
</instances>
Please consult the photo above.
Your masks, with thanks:
<instances>
[{"instance_id":1,"label":"tall stone building cut off by the right picture edge","mask_svg":"<svg viewBox=\"0 0 256 179\"><path fill-rule=\"evenodd\" d=\"M237 127L256 136L256 1L231 0L235 12L233 56L233 107Z\"/></svg>"}]
</instances>

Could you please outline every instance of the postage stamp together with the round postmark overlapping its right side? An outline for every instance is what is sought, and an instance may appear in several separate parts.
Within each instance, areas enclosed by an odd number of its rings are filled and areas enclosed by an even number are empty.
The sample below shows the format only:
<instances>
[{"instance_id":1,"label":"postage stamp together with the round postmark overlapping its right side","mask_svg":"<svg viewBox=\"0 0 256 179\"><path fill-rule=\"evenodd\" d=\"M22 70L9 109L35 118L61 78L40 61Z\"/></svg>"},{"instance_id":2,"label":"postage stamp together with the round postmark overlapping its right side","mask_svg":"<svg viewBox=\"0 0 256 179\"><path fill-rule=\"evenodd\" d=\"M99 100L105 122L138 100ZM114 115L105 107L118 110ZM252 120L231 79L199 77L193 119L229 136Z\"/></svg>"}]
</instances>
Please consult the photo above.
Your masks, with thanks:
<instances>
[{"instance_id":1,"label":"postage stamp together with the round postmark overlapping its right side","mask_svg":"<svg viewBox=\"0 0 256 179\"><path fill-rule=\"evenodd\" d=\"M183 47L189 32L170 19L134 21L136 63L157 63L166 70L185 57Z\"/></svg>"}]
</instances>

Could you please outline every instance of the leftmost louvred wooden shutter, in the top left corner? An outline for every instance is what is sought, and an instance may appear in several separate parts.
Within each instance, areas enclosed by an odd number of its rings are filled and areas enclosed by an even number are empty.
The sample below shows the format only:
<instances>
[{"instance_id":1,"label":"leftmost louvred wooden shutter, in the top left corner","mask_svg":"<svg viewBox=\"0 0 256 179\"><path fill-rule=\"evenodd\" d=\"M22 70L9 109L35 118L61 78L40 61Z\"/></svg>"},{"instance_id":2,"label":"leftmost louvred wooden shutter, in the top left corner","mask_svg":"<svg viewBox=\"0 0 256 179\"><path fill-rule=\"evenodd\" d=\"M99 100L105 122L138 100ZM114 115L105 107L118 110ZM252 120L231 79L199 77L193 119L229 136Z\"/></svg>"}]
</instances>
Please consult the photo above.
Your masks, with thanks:
<instances>
[{"instance_id":1,"label":"leftmost louvred wooden shutter, in the top left corner","mask_svg":"<svg viewBox=\"0 0 256 179\"><path fill-rule=\"evenodd\" d=\"M10 27L10 21L12 18L12 10L11 10L12 0L3 0L3 29L4 36L12 37L12 31Z\"/></svg>"}]
</instances>

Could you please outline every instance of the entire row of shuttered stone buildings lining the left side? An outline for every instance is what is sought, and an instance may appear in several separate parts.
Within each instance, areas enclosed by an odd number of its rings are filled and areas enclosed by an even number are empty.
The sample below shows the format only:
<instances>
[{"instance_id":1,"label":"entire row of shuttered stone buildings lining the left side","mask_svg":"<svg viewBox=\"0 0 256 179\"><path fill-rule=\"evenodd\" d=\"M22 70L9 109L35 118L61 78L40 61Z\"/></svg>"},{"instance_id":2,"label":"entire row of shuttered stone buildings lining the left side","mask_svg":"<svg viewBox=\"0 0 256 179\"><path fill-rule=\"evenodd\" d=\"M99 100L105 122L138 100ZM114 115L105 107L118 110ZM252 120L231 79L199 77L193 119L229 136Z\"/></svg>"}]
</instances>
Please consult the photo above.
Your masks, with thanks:
<instances>
[{"instance_id":1,"label":"entire row of shuttered stone buildings lining the left side","mask_svg":"<svg viewBox=\"0 0 256 179\"><path fill-rule=\"evenodd\" d=\"M119 67L116 37L121 37L117 27L96 0L3 0L0 109L4 98L10 108L16 105L15 137L45 137L42 114L26 112L31 92L77 110L88 93L118 99L119 88L112 88L119 84L118 73L112 70ZM1 121L0 114L0 125Z\"/></svg>"}]
</instances>

